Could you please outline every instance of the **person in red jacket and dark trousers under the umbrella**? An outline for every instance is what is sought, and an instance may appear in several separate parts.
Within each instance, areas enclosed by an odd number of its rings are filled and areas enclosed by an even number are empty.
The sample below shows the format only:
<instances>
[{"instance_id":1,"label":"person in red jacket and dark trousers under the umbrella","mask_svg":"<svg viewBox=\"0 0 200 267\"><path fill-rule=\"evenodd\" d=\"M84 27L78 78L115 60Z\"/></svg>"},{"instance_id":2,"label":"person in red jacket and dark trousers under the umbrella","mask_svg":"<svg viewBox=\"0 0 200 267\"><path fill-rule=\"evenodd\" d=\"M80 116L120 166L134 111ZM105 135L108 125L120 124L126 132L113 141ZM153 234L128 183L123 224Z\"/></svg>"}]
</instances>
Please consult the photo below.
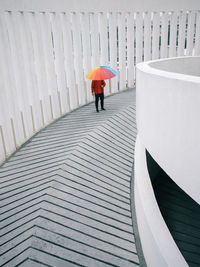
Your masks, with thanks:
<instances>
[{"instance_id":1,"label":"person in red jacket and dark trousers under the umbrella","mask_svg":"<svg viewBox=\"0 0 200 267\"><path fill-rule=\"evenodd\" d=\"M106 83L104 80L93 80L91 84L92 95L95 95L95 107L96 111L99 112L99 98L101 102L101 110L105 110L104 108L104 87Z\"/></svg>"}]
</instances>

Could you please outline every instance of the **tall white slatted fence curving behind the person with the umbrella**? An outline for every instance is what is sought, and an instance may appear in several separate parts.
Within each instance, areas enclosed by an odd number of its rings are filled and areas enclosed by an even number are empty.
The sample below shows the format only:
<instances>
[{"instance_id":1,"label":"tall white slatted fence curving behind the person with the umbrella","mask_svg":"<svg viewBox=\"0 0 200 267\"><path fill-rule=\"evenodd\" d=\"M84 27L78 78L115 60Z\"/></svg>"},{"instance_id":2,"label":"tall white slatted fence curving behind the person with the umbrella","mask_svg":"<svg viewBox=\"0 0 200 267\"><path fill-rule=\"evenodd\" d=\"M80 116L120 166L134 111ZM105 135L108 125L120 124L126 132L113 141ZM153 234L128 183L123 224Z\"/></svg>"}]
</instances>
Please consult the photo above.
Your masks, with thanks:
<instances>
[{"instance_id":1,"label":"tall white slatted fence curving behind the person with the umbrella","mask_svg":"<svg viewBox=\"0 0 200 267\"><path fill-rule=\"evenodd\" d=\"M0 162L52 120L92 101L86 73L118 76L105 94L134 86L135 64L200 55L200 11L0 11Z\"/></svg>"}]
</instances>

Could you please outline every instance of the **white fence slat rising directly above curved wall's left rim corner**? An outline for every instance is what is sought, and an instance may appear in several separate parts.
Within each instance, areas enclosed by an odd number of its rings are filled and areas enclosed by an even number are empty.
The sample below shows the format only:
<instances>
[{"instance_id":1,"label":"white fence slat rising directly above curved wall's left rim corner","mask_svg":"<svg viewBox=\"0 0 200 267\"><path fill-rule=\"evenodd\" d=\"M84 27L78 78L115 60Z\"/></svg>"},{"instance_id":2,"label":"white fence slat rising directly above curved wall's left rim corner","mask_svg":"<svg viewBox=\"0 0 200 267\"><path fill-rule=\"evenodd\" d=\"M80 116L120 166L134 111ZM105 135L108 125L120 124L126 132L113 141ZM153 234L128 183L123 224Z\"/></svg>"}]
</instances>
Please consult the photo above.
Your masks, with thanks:
<instances>
[{"instance_id":1,"label":"white fence slat rising directly above curved wall's left rim corner","mask_svg":"<svg viewBox=\"0 0 200 267\"><path fill-rule=\"evenodd\" d=\"M143 49L143 19L142 12L136 13L136 64L142 61Z\"/></svg>"}]
</instances>

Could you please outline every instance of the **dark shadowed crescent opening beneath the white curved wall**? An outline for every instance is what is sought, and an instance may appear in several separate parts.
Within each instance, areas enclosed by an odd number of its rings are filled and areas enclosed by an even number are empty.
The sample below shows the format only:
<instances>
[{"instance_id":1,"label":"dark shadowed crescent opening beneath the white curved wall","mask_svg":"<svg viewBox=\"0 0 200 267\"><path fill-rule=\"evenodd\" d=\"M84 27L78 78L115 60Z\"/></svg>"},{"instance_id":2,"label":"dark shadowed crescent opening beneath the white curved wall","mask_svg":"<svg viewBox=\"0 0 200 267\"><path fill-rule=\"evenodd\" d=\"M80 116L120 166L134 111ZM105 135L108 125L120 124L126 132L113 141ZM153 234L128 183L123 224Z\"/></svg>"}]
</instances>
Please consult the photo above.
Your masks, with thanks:
<instances>
[{"instance_id":1,"label":"dark shadowed crescent opening beneath the white curved wall","mask_svg":"<svg viewBox=\"0 0 200 267\"><path fill-rule=\"evenodd\" d=\"M164 172L147 150L146 160L155 197L171 235L188 265L200 266L200 205Z\"/></svg>"}]
</instances>

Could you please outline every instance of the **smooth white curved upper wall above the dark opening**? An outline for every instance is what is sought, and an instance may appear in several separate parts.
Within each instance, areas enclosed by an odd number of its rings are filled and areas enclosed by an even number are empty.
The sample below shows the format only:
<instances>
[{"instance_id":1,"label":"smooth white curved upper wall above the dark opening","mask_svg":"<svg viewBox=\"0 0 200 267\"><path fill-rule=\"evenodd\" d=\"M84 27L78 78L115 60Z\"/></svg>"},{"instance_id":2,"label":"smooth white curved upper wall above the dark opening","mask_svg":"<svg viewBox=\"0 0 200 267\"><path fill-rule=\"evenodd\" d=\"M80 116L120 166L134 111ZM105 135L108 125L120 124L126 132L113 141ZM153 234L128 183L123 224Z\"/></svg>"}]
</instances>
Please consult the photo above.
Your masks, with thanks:
<instances>
[{"instance_id":1,"label":"smooth white curved upper wall above the dark opening","mask_svg":"<svg viewBox=\"0 0 200 267\"><path fill-rule=\"evenodd\" d=\"M177 62L185 64L184 73L196 73L200 57L164 61L137 66L138 134L161 168L200 203L200 77L153 67L175 70Z\"/></svg>"}]
</instances>

